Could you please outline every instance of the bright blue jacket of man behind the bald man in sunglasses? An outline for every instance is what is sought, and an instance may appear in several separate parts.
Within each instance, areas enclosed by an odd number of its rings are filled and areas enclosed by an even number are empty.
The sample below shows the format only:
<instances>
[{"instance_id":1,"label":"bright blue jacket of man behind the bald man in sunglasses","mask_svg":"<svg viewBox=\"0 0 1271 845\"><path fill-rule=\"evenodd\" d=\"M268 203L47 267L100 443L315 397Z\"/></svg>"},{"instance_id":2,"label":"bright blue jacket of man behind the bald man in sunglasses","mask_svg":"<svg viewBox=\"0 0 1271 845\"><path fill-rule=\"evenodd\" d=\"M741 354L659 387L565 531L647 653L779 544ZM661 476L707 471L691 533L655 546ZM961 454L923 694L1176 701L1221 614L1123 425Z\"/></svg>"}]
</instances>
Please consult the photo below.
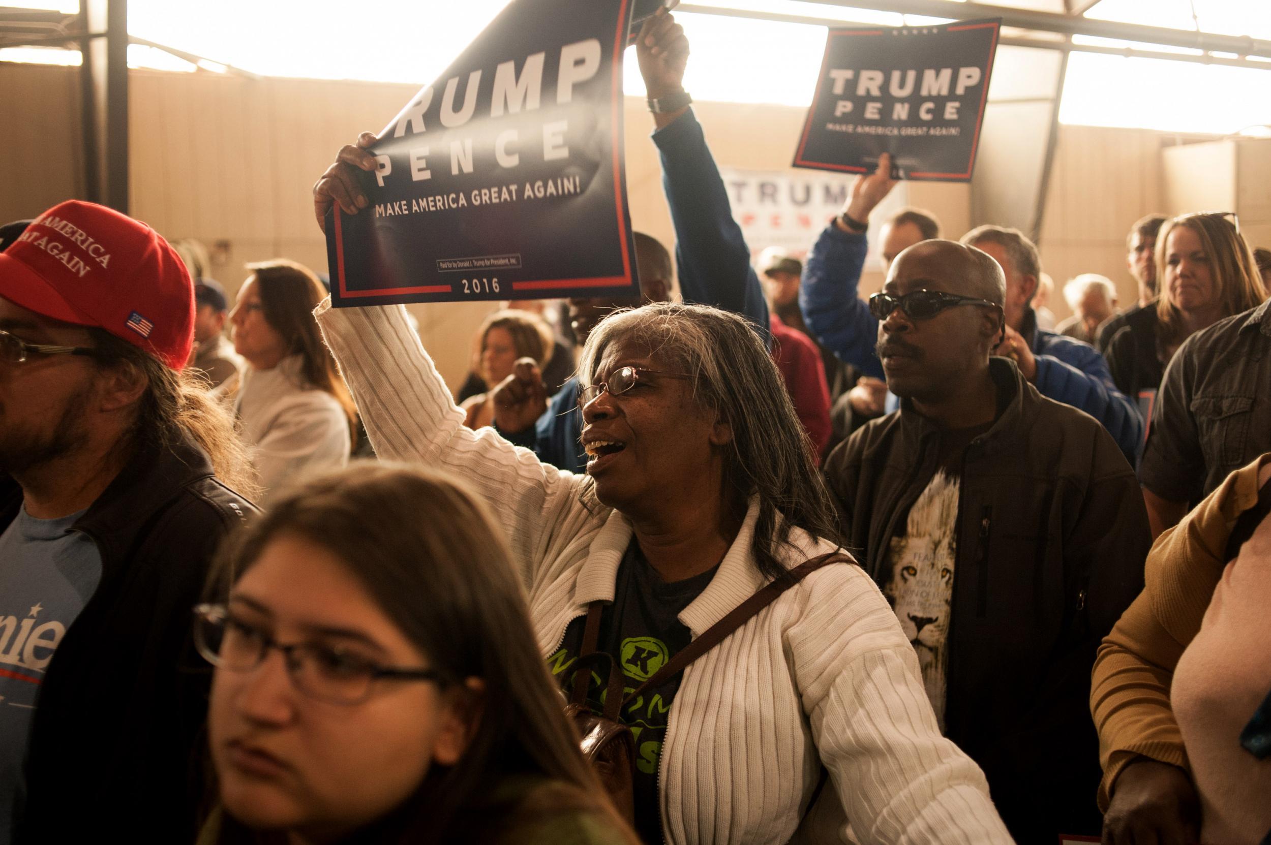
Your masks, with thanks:
<instances>
[{"instance_id":1,"label":"bright blue jacket of man behind the bald man in sunglasses","mask_svg":"<svg viewBox=\"0 0 1271 845\"><path fill-rule=\"evenodd\" d=\"M882 363L874 355L878 320L857 295L867 249L864 235L848 234L831 222L803 264L798 304L822 346L866 375L882 379ZM1041 395L1103 423L1132 465L1143 443L1143 418L1116 389L1103 356L1088 343L1038 329L1032 310L1019 334L1037 358L1033 386Z\"/></svg>"}]
</instances>

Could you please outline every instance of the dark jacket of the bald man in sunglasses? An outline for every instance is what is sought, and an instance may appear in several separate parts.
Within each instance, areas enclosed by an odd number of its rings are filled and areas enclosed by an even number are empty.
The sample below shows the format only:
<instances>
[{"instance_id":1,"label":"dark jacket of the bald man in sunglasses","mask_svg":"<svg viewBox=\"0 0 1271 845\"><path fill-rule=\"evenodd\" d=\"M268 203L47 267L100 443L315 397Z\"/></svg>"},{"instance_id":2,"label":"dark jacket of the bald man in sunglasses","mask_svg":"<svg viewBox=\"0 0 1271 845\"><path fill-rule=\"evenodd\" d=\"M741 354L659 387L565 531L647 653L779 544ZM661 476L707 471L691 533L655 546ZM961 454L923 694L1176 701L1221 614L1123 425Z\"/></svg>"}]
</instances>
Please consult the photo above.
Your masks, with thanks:
<instances>
[{"instance_id":1,"label":"dark jacket of the bald man in sunglasses","mask_svg":"<svg viewBox=\"0 0 1271 845\"><path fill-rule=\"evenodd\" d=\"M984 769L1017 841L1051 845L1099 831L1091 668L1143 588L1150 535L1103 426L1043 398L1005 358L990 372L1012 398L962 463L946 734ZM896 526L935 474L938 442L905 403L826 461L849 548L880 585Z\"/></svg>"}]
</instances>

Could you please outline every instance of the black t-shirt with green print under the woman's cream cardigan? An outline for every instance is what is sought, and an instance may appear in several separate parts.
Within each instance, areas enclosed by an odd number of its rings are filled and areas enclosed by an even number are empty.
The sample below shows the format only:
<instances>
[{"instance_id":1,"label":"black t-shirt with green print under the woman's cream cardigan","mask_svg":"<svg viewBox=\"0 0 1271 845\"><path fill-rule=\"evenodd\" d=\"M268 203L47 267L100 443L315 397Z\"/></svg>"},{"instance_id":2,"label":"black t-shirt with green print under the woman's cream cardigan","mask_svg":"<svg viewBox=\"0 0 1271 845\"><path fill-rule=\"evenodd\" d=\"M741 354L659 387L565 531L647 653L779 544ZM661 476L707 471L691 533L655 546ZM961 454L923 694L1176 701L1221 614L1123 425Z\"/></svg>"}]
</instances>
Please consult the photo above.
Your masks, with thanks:
<instances>
[{"instance_id":1,"label":"black t-shirt with green print under the woman's cream cardigan","mask_svg":"<svg viewBox=\"0 0 1271 845\"><path fill-rule=\"evenodd\" d=\"M693 640L693 633L679 615L702 595L719 567L685 581L667 583L657 574L632 540L618 567L614 604L600 616L597 649L614 656L622 665L629 695L662 668L671 656ZM567 693L573 689L573 665L582 648L586 618L569 623L561 647L548 658L548 668ZM644 842L662 841L661 809L657 797L657 769L666 737L671 701L684 673L669 679L633 700L619 718L636 734L636 831ZM587 704L600 713L608 676L595 671L587 690Z\"/></svg>"}]
</instances>

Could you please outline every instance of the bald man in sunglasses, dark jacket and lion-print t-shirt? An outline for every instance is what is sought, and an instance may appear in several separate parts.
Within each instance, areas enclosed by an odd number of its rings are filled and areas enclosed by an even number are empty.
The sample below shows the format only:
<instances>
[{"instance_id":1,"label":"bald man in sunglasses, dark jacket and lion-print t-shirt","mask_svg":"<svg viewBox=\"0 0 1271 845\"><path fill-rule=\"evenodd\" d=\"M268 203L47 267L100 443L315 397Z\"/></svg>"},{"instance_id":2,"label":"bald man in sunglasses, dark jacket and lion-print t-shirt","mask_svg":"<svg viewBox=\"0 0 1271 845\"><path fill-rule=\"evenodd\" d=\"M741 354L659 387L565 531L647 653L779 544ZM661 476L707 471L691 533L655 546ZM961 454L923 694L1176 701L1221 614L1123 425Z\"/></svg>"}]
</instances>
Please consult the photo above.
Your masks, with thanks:
<instances>
[{"instance_id":1,"label":"bald man in sunglasses, dark jacket and lion-print t-shirt","mask_svg":"<svg viewBox=\"0 0 1271 845\"><path fill-rule=\"evenodd\" d=\"M1143 587L1148 516L1108 432L1042 396L1004 333L988 253L927 240L892 263L878 358L899 413L826 460L843 536L891 601L946 736L1019 842L1099 835L1089 677Z\"/></svg>"}]
</instances>

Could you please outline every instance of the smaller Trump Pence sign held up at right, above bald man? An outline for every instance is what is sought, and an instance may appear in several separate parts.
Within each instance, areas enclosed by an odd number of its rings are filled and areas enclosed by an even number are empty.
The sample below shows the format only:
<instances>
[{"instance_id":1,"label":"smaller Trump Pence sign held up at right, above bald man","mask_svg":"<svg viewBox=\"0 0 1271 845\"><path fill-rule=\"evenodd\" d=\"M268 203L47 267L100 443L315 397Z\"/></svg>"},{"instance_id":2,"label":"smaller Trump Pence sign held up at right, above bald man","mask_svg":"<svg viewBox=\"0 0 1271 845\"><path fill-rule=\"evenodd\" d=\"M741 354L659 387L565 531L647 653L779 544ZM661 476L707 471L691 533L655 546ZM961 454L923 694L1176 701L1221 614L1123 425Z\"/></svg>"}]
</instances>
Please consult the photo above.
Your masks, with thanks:
<instances>
[{"instance_id":1,"label":"smaller Trump Pence sign held up at right, above bald man","mask_svg":"<svg viewBox=\"0 0 1271 845\"><path fill-rule=\"evenodd\" d=\"M1000 27L831 29L794 166L969 182Z\"/></svg>"}]
</instances>

